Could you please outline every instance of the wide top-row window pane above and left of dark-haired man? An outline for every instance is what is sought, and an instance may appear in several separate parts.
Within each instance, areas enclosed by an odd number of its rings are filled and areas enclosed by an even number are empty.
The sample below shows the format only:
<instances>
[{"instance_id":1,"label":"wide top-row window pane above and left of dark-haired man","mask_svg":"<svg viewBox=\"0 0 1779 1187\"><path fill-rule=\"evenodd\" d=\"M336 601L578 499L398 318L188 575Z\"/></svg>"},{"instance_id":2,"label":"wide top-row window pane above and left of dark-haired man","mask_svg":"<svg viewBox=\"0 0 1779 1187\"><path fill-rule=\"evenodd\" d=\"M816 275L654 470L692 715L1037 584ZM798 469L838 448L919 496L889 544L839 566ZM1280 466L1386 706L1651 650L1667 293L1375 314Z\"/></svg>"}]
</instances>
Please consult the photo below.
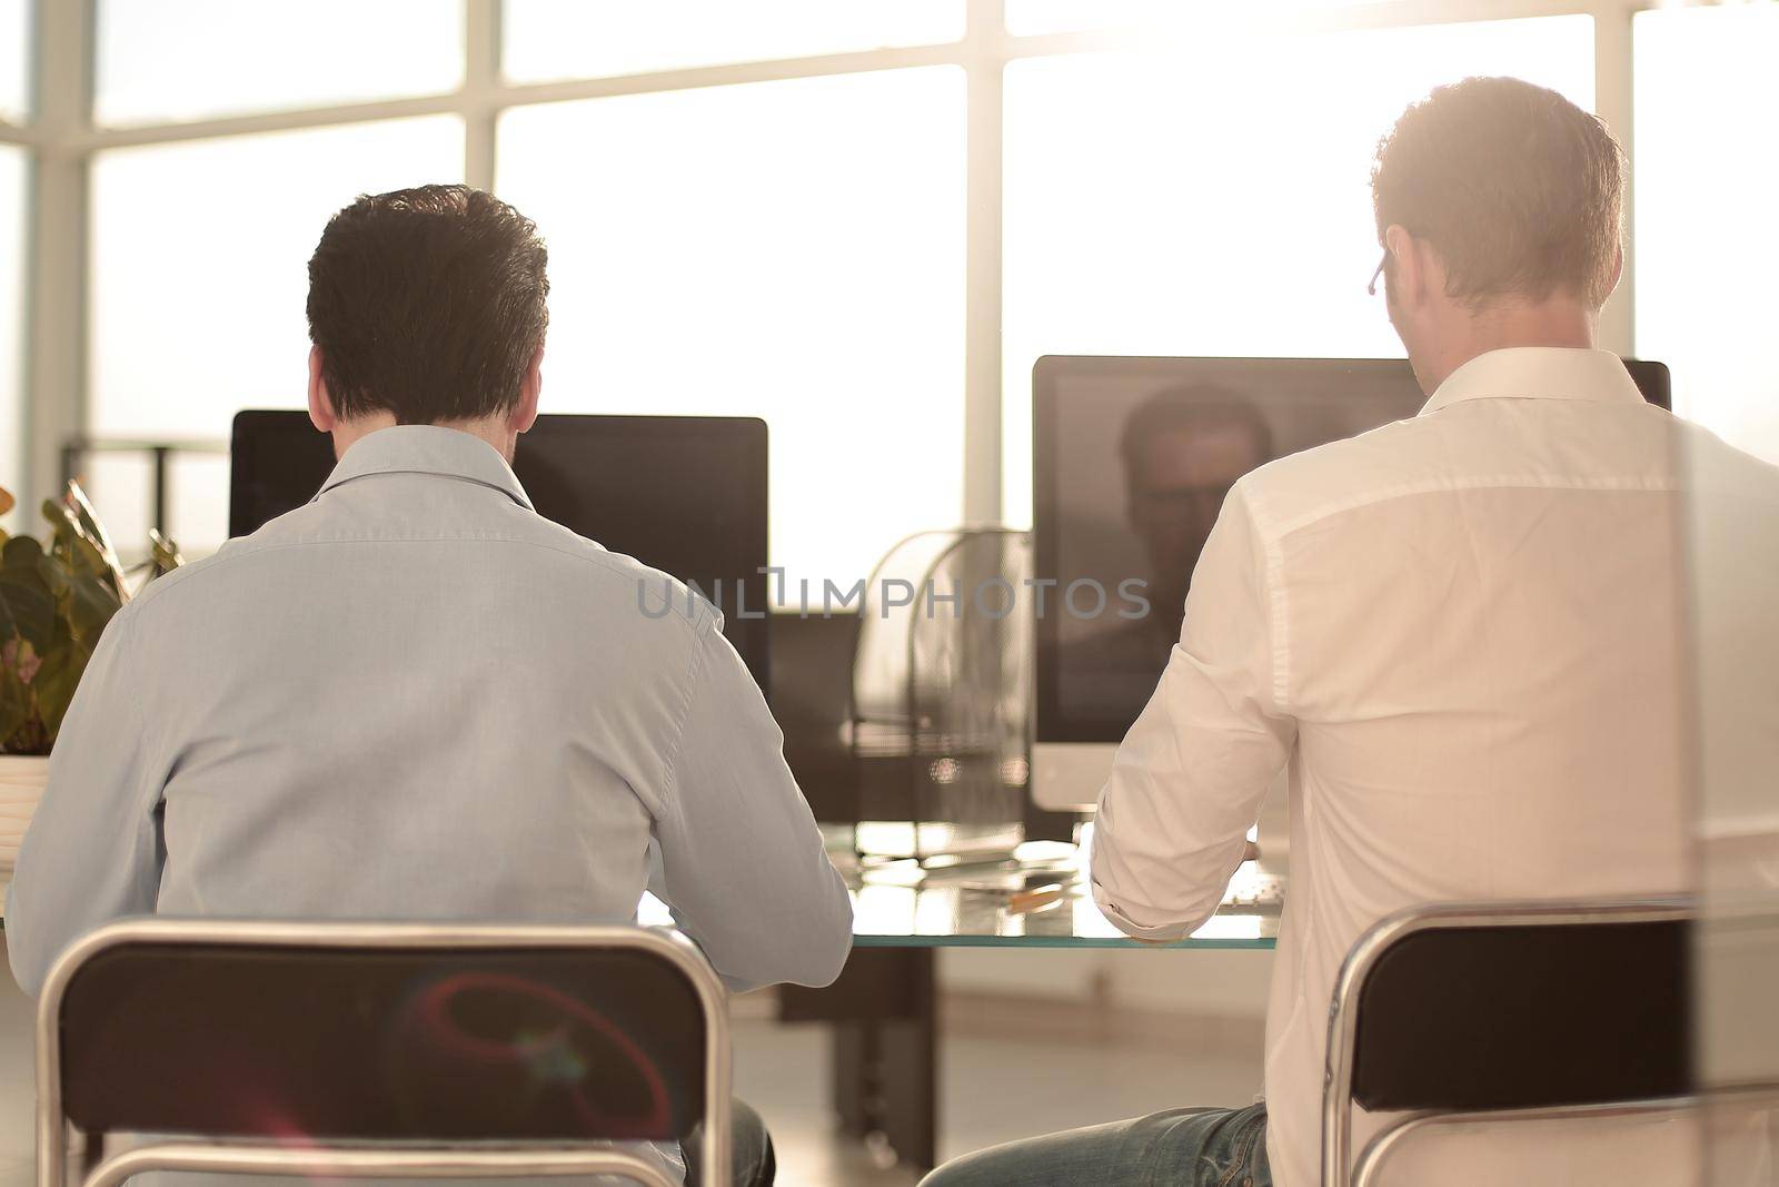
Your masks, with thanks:
<instances>
[{"instance_id":1,"label":"wide top-row window pane above and left of dark-haired man","mask_svg":"<svg viewBox=\"0 0 1779 1187\"><path fill-rule=\"evenodd\" d=\"M103 0L96 57L110 126L443 93L463 0Z\"/></svg>"}]
</instances>

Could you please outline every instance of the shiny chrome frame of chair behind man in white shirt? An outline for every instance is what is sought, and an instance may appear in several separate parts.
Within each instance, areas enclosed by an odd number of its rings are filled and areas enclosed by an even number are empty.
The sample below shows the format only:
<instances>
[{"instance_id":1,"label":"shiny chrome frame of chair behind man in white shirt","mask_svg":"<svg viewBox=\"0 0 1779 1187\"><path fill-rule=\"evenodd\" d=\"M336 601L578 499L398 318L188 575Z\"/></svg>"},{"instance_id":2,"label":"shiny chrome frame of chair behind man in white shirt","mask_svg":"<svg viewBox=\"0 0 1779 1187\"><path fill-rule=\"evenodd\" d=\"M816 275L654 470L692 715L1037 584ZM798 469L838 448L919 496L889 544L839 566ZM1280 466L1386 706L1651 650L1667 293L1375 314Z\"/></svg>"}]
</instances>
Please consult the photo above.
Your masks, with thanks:
<instances>
[{"instance_id":1,"label":"shiny chrome frame of chair behind man in white shirt","mask_svg":"<svg viewBox=\"0 0 1779 1187\"><path fill-rule=\"evenodd\" d=\"M1329 1002L1327 1071L1322 1082L1322 1187L1370 1187L1384 1159L1409 1134L1439 1125L1507 1125L1606 1116L1660 1116L1697 1105L1695 1096L1487 1112L1413 1112L1379 1132L1352 1162L1352 1073L1359 1036L1354 1000L1377 961L1404 936L1436 927L1535 927L1564 924L1656 924L1694 916L1685 897L1439 902L1414 906L1379 920L1359 936L1334 981Z\"/></svg>"}]
</instances>

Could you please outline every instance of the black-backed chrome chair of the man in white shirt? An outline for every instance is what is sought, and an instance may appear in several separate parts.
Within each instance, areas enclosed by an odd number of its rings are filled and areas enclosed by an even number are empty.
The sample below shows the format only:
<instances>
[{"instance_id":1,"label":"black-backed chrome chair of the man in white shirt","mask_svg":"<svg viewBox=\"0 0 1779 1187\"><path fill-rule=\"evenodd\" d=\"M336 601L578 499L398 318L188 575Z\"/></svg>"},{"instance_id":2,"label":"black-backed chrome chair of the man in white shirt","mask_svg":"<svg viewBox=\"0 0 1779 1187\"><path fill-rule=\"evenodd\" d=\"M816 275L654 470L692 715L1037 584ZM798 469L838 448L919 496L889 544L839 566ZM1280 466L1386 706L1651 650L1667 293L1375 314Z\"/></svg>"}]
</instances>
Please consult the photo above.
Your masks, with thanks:
<instances>
[{"instance_id":1,"label":"black-backed chrome chair of the man in white shirt","mask_svg":"<svg viewBox=\"0 0 1779 1187\"><path fill-rule=\"evenodd\" d=\"M1692 1089L1690 911L1475 902L1398 911L1347 954L1329 1005L1322 1187L1368 1187L1413 1132L1656 1116ZM1350 1166L1352 1105L1405 1110Z\"/></svg>"}]
</instances>

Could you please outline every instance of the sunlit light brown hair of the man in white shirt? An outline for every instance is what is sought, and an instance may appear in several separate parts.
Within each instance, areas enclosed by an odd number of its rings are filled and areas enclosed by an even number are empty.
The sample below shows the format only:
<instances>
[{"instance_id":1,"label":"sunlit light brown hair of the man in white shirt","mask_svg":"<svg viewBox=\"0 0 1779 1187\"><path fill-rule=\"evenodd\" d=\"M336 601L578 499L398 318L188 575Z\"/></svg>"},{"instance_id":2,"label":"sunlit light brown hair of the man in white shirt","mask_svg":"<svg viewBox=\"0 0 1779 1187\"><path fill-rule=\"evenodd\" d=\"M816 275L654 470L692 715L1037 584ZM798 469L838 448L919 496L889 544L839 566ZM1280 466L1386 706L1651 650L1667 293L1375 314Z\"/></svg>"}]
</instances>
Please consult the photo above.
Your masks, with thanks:
<instances>
[{"instance_id":1,"label":"sunlit light brown hair of the man in white shirt","mask_svg":"<svg viewBox=\"0 0 1779 1187\"><path fill-rule=\"evenodd\" d=\"M1377 237L1393 222L1446 267L1446 295L1592 308L1612 294L1624 151L1598 117L1519 78L1436 87L1377 146Z\"/></svg>"}]
</instances>

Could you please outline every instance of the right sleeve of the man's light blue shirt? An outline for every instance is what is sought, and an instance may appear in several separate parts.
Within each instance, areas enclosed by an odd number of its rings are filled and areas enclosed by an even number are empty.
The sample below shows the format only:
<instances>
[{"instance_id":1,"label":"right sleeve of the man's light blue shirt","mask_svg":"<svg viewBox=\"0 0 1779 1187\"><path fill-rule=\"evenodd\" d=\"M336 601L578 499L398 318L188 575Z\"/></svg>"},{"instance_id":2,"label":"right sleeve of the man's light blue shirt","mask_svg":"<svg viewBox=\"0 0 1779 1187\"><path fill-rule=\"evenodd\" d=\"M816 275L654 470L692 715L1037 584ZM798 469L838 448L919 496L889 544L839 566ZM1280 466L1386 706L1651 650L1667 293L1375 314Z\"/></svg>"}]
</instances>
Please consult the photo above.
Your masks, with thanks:
<instances>
[{"instance_id":1,"label":"right sleeve of the man's light blue shirt","mask_svg":"<svg viewBox=\"0 0 1779 1187\"><path fill-rule=\"evenodd\" d=\"M852 950L847 886L740 655L710 619L696 646L653 890L731 989L825 986Z\"/></svg>"}]
</instances>

